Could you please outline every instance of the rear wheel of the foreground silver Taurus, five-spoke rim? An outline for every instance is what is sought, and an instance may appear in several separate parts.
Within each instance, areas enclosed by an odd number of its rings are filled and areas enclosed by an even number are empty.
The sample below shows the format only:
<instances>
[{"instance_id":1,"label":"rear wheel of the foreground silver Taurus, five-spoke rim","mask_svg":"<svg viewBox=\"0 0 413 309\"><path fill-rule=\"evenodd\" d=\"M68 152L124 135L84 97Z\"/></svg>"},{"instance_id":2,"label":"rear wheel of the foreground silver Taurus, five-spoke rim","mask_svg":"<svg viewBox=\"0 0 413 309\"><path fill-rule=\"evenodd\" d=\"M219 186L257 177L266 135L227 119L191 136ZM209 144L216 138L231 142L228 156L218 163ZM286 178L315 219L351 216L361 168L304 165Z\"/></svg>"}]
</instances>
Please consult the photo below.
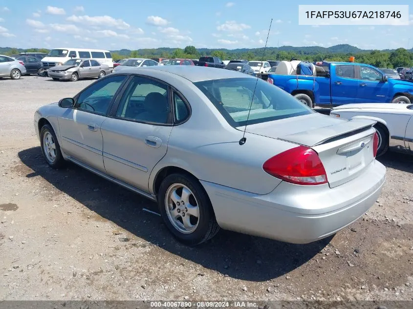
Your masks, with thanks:
<instances>
[{"instance_id":1,"label":"rear wheel of the foreground silver Taurus, five-spoke rim","mask_svg":"<svg viewBox=\"0 0 413 309\"><path fill-rule=\"evenodd\" d=\"M165 225L186 245L206 242L219 230L208 195L195 177L167 176L159 187L158 206Z\"/></svg>"}]
</instances>

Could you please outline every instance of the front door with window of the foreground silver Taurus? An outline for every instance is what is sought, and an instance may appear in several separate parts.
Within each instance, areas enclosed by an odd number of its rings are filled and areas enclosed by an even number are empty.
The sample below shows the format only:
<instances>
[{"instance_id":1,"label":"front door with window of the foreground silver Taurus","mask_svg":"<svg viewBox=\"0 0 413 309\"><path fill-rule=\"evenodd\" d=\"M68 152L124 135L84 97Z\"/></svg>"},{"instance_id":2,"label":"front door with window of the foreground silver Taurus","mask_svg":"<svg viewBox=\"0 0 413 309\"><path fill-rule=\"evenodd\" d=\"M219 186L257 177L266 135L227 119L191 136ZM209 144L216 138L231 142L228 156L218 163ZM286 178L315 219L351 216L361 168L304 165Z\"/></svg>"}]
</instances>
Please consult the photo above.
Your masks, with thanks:
<instances>
[{"instance_id":1,"label":"front door with window of the foreground silver Taurus","mask_svg":"<svg viewBox=\"0 0 413 309\"><path fill-rule=\"evenodd\" d=\"M105 171L101 125L107 119L110 104L116 98L126 75L108 76L91 84L75 99L75 106L67 108L58 118L62 149L69 156Z\"/></svg>"}]
</instances>

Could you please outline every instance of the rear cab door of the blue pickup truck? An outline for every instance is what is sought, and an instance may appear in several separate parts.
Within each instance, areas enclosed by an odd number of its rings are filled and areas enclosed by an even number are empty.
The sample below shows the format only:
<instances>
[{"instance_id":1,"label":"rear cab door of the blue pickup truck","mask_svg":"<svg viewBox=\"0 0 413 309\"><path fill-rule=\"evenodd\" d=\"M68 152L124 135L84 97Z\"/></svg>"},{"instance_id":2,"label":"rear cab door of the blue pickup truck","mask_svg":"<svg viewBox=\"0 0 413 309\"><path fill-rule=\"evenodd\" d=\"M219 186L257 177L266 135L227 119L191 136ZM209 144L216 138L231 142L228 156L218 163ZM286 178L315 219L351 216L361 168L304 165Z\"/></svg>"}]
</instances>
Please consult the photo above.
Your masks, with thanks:
<instances>
[{"instance_id":1,"label":"rear cab door of the blue pickup truck","mask_svg":"<svg viewBox=\"0 0 413 309\"><path fill-rule=\"evenodd\" d=\"M359 87L358 80L355 79L355 65L332 65L331 70L335 70L331 80L331 103L333 105L354 103ZM334 72L332 72L334 73Z\"/></svg>"}]
</instances>

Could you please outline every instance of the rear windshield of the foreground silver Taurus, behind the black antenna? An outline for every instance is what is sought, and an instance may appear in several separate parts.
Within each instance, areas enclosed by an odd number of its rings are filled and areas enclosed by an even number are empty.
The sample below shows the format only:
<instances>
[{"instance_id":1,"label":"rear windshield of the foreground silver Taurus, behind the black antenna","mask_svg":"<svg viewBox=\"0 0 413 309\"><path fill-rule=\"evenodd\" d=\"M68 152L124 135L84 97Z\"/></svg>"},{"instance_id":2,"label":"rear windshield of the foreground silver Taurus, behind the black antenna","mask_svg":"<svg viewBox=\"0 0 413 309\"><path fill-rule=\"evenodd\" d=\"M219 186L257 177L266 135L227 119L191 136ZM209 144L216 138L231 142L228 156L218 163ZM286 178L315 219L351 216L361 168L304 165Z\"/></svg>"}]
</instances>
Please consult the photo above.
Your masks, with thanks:
<instances>
[{"instance_id":1,"label":"rear windshield of the foreground silver Taurus, behind the black antenna","mask_svg":"<svg viewBox=\"0 0 413 309\"><path fill-rule=\"evenodd\" d=\"M252 100L256 83L257 89ZM250 106L248 124L315 113L284 90L261 79L231 78L194 84L233 127L246 124Z\"/></svg>"}]
</instances>

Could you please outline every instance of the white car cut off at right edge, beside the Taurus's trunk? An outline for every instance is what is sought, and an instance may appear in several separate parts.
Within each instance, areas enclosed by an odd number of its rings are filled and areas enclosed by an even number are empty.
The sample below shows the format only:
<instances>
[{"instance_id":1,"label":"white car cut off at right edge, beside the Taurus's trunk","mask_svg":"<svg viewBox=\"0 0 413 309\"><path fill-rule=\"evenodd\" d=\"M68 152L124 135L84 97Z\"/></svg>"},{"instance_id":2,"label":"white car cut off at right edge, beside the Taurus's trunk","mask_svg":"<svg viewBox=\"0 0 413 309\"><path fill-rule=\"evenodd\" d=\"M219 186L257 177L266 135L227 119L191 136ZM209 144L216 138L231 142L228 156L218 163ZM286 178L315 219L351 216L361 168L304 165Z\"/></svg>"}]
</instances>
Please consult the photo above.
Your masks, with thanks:
<instances>
[{"instance_id":1,"label":"white car cut off at right edge, beside the Taurus's trunk","mask_svg":"<svg viewBox=\"0 0 413 309\"><path fill-rule=\"evenodd\" d=\"M346 104L331 110L330 116L344 119L370 119L377 123L377 156L389 148L413 155L413 104Z\"/></svg>"}]
</instances>

